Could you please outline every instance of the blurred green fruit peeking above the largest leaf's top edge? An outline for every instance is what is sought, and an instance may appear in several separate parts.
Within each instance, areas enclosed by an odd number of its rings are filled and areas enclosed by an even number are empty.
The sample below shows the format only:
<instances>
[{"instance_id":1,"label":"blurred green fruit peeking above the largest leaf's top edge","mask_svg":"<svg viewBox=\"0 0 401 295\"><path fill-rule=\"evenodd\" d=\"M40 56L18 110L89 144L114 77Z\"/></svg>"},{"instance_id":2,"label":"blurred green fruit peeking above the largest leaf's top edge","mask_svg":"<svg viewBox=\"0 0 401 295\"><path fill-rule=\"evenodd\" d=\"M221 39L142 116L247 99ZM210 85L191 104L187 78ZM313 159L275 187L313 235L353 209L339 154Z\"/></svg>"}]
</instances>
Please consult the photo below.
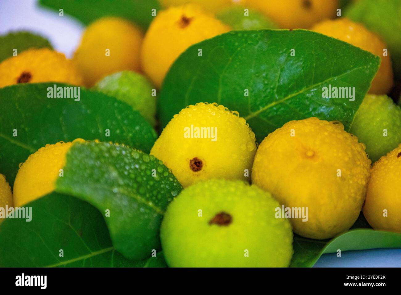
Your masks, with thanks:
<instances>
[{"instance_id":1,"label":"blurred green fruit peeking above the largest leaf's top edge","mask_svg":"<svg viewBox=\"0 0 401 295\"><path fill-rule=\"evenodd\" d=\"M244 15L244 7L233 6L225 9L217 18L234 30L258 30L262 28L278 28L278 26L258 11L250 10L249 16Z\"/></svg>"}]
</instances>

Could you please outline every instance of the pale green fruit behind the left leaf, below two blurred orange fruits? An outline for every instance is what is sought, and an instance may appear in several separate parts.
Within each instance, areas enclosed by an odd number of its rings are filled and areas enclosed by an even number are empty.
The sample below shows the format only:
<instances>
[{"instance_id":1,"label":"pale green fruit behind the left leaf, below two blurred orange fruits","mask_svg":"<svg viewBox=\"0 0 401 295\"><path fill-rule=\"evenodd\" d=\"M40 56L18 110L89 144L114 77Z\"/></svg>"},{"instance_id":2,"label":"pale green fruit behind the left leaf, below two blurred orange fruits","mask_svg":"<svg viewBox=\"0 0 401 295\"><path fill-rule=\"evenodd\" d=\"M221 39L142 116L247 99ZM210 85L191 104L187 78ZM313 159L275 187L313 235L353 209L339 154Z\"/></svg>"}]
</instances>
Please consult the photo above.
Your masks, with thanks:
<instances>
[{"instance_id":1,"label":"pale green fruit behind the left leaf, below two blurred orange fruits","mask_svg":"<svg viewBox=\"0 0 401 295\"><path fill-rule=\"evenodd\" d=\"M152 96L153 89L145 76L132 71L113 73L97 81L94 86L94 90L126 102L155 126L156 97Z\"/></svg>"}]
</instances>

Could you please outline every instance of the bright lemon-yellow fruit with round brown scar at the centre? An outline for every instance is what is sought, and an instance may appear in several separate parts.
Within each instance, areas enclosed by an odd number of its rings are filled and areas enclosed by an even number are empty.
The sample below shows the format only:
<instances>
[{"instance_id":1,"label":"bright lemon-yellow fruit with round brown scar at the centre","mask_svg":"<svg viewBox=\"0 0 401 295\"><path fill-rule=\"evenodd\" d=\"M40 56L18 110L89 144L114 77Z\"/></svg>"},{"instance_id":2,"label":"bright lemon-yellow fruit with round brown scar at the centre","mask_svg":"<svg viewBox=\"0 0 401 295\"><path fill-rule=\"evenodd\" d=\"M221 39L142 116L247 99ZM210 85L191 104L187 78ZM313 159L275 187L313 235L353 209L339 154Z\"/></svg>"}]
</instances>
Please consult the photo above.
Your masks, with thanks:
<instances>
[{"instance_id":1,"label":"bright lemon-yellow fruit with round brown scar at the centre","mask_svg":"<svg viewBox=\"0 0 401 295\"><path fill-rule=\"evenodd\" d=\"M190 128L191 124L217 128L217 140L184 138L184 128ZM244 118L221 105L198 103L174 115L150 154L162 160L181 185L187 187L196 181L212 178L250 181L255 152L255 134ZM194 158L202 162L198 171L193 171L193 165L190 165ZM245 169L249 171L247 177Z\"/></svg>"}]
</instances>

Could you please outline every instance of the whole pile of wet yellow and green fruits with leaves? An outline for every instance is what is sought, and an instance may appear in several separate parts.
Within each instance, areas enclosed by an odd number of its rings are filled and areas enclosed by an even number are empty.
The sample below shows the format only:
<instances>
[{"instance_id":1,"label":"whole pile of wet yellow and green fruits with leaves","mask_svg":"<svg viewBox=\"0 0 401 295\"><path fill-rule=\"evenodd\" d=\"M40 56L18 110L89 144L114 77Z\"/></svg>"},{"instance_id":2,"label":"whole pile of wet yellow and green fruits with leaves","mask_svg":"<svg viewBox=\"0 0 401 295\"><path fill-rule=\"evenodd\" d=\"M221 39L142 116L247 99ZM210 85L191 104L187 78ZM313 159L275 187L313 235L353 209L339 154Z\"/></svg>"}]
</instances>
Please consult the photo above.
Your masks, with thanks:
<instances>
[{"instance_id":1,"label":"whole pile of wet yellow and green fruits with leaves","mask_svg":"<svg viewBox=\"0 0 401 295\"><path fill-rule=\"evenodd\" d=\"M0 267L401 248L401 1L78 2L0 37Z\"/></svg>"}]
</instances>

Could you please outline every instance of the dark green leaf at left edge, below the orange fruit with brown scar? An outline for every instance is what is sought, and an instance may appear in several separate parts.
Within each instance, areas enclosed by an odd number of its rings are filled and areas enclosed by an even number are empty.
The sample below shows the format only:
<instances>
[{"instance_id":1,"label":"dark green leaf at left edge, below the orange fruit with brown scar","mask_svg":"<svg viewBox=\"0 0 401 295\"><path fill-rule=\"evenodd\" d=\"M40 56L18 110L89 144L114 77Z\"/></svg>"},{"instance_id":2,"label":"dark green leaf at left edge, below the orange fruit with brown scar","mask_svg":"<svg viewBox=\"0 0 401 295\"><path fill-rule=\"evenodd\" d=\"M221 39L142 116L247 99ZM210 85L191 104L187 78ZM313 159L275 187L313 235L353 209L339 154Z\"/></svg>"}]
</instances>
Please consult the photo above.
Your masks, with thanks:
<instances>
[{"instance_id":1,"label":"dark green leaf at left edge, below the orange fruit with brown scar","mask_svg":"<svg viewBox=\"0 0 401 295\"><path fill-rule=\"evenodd\" d=\"M83 88L79 101L48 98L47 87L53 85L26 83L0 88L0 173L11 186L18 164L46 144L83 138L128 144L146 153L152 148L156 132L128 104ZM57 87L64 86L57 83ZM13 136L14 129L17 136Z\"/></svg>"}]
</instances>

